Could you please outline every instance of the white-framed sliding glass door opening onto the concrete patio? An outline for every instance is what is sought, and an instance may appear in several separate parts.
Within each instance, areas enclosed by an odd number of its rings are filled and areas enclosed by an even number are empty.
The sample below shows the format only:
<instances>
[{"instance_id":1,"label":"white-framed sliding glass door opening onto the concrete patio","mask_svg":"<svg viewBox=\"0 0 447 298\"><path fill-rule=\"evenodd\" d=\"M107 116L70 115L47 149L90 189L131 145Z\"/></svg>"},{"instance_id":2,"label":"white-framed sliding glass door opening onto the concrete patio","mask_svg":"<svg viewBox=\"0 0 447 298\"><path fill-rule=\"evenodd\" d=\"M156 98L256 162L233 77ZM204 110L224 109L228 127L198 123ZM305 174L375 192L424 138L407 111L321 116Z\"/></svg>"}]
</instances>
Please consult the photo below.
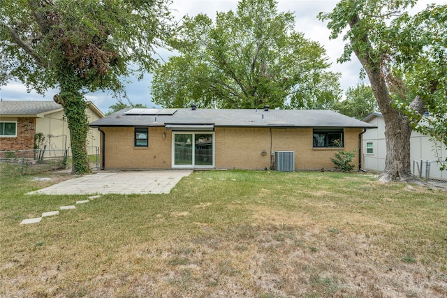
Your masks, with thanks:
<instances>
[{"instance_id":1,"label":"white-framed sliding glass door opening onto the concrete patio","mask_svg":"<svg viewBox=\"0 0 447 298\"><path fill-rule=\"evenodd\" d=\"M213 167L214 133L173 133L173 167Z\"/></svg>"}]
</instances>

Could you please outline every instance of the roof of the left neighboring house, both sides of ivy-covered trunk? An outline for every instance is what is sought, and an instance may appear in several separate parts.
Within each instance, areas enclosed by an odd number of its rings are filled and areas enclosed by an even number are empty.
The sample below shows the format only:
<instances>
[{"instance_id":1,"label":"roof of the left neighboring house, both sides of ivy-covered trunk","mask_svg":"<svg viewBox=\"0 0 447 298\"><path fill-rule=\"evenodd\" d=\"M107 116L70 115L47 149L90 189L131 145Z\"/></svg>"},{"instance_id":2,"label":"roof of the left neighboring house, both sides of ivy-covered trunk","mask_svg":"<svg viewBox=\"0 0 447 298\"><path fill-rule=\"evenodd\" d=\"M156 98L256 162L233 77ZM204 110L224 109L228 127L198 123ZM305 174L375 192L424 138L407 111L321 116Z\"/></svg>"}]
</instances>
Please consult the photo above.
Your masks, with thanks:
<instances>
[{"instance_id":1,"label":"roof of the left neighboring house, both sides of ivy-covered trunk","mask_svg":"<svg viewBox=\"0 0 447 298\"><path fill-rule=\"evenodd\" d=\"M89 107L98 117L104 117L104 114L89 102ZM3 117L35 117L42 118L45 114L59 112L64 110L62 105L54 103L53 100L1 100L0 116Z\"/></svg>"}]
</instances>

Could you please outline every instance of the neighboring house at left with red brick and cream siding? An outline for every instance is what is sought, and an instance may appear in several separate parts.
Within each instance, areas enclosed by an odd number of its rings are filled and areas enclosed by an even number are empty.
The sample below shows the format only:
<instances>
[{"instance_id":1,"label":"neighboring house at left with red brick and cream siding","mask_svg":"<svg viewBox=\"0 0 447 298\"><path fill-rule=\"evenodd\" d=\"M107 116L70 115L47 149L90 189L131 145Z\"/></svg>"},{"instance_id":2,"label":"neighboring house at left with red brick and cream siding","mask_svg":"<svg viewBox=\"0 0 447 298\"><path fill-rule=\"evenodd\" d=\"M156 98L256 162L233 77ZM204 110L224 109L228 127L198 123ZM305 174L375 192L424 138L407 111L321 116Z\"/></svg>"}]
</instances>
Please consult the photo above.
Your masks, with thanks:
<instances>
[{"instance_id":1,"label":"neighboring house at left with red brick and cream siding","mask_svg":"<svg viewBox=\"0 0 447 298\"><path fill-rule=\"evenodd\" d=\"M86 113L89 121L104 117L93 103L89 103ZM0 151L34 149L36 133L45 137L43 145L47 150L62 154L69 149L70 133L61 105L52 100L1 100ZM90 129L87 143L90 147L99 146L96 129Z\"/></svg>"}]
</instances>

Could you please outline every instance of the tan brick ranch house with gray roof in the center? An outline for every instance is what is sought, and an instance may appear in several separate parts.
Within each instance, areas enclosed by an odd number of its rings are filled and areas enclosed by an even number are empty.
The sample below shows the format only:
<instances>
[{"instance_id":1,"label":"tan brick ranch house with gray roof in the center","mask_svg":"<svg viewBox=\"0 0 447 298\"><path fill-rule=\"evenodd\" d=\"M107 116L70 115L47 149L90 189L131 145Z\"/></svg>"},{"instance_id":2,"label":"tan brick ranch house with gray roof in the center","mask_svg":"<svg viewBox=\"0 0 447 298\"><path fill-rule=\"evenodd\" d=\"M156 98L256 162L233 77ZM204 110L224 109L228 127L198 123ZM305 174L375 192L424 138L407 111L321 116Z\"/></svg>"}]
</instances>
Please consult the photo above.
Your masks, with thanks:
<instances>
[{"instance_id":1,"label":"tan brick ranch house with gray roof in the center","mask_svg":"<svg viewBox=\"0 0 447 298\"><path fill-rule=\"evenodd\" d=\"M330 158L337 150L359 149L362 133L375 127L330 110L212 110L195 105L124 109L90 126L101 131L103 169L258 170L332 169Z\"/></svg>"}]
</instances>

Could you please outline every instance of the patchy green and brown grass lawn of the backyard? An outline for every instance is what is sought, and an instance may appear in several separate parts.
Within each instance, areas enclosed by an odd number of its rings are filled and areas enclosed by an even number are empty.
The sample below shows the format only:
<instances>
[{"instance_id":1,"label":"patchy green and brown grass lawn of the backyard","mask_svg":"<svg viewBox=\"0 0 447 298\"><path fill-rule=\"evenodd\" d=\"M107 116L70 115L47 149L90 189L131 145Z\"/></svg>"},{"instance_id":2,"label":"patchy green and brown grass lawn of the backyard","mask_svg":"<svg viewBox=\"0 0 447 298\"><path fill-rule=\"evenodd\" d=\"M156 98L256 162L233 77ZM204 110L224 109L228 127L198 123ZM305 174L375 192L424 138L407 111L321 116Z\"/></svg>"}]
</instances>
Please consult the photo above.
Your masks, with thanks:
<instances>
[{"instance_id":1,"label":"patchy green and brown grass lawn of the backyard","mask_svg":"<svg viewBox=\"0 0 447 298\"><path fill-rule=\"evenodd\" d=\"M0 180L0 297L447 296L444 190L204 171L19 225L86 200L26 195L54 183L33 178Z\"/></svg>"}]
</instances>

